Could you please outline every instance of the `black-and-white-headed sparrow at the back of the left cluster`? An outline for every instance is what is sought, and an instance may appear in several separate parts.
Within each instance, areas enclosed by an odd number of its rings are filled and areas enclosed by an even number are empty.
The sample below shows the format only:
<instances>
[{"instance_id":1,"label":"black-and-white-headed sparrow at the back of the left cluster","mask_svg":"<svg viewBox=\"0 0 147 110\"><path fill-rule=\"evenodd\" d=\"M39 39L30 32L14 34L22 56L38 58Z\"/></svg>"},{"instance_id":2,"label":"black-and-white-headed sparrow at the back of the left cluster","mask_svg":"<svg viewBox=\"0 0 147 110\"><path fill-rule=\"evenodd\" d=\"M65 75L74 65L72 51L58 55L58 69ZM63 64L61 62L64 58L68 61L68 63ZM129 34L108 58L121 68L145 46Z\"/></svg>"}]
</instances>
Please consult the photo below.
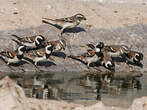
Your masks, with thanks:
<instances>
[{"instance_id":1,"label":"black-and-white-headed sparrow at the back of the left cluster","mask_svg":"<svg viewBox=\"0 0 147 110\"><path fill-rule=\"evenodd\" d=\"M42 35L35 35L30 37L18 37L17 35L12 34L13 37L15 37L17 40L17 43L20 45L25 45L30 49L34 48L42 48L44 47L44 43L46 41L45 37Z\"/></svg>"}]
</instances>

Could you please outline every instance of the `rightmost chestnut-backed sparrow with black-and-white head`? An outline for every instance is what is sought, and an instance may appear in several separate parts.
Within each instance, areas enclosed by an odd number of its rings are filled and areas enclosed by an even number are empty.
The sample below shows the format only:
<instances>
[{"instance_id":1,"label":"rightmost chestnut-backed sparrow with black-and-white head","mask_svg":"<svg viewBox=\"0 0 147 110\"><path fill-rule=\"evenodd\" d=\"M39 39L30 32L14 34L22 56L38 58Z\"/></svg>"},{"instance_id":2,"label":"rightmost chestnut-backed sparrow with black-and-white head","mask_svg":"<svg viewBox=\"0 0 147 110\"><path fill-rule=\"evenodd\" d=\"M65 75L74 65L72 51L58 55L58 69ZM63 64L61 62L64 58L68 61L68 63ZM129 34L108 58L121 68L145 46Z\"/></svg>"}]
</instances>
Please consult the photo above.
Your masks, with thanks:
<instances>
[{"instance_id":1,"label":"rightmost chestnut-backed sparrow with black-and-white head","mask_svg":"<svg viewBox=\"0 0 147 110\"><path fill-rule=\"evenodd\" d=\"M126 55L126 63L133 62L135 64L140 63L143 60L143 53L137 52L134 50L130 50L129 53L125 53Z\"/></svg>"}]
</instances>

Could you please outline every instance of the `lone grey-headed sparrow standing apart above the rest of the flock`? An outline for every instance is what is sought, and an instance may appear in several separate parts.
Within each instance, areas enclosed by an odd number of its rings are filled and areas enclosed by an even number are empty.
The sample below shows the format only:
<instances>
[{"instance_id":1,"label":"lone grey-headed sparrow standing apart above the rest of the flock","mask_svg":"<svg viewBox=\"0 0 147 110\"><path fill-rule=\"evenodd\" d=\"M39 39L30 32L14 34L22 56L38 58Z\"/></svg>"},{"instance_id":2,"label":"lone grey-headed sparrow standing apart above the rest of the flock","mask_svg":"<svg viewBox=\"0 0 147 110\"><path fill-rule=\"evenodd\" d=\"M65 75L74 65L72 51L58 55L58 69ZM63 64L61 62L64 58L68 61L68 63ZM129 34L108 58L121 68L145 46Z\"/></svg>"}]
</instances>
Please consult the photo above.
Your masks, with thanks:
<instances>
[{"instance_id":1,"label":"lone grey-headed sparrow standing apart above the rest of the flock","mask_svg":"<svg viewBox=\"0 0 147 110\"><path fill-rule=\"evenodd\" d=\"M42 18L42 22L49 22L53 25L58 25L61 27L61 35L64 33L64 29L66 28L74 28L81 23L82 20L86 20L86 17L78 13L74 16L67 17L67 18L59 18L59 19L49 19L49 18Z\"/></svg>"}]
</instances>

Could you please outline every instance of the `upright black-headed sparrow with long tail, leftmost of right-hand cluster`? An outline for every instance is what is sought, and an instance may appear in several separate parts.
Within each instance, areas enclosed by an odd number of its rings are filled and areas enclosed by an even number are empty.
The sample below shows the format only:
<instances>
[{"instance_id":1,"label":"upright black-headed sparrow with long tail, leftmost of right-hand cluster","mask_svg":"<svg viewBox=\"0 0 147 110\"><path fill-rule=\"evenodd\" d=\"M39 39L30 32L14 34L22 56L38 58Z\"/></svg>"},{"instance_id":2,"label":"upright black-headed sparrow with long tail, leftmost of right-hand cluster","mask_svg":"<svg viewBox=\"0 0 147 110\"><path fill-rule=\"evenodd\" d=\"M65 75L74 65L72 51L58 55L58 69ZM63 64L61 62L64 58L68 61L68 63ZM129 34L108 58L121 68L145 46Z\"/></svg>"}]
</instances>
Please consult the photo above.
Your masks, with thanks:
<instances>
[{"instance_id":1,"label":"upright black-headed sparrow with long tail, leftmost of right-hand cluster","mask_svg":"<svg viewBox=\"0 0 147 110\"><path fill-rule=\"evenodd\" d=\"M103 43L99 43L96 46L96 49L88 50L86 53L78 56L70 55L69 58L80 58L85 64L87 64L87 68L89 68L90 64L93 62L97 62L101 59L101 49L103 48Z\"/></svg>"}]
</instances>

